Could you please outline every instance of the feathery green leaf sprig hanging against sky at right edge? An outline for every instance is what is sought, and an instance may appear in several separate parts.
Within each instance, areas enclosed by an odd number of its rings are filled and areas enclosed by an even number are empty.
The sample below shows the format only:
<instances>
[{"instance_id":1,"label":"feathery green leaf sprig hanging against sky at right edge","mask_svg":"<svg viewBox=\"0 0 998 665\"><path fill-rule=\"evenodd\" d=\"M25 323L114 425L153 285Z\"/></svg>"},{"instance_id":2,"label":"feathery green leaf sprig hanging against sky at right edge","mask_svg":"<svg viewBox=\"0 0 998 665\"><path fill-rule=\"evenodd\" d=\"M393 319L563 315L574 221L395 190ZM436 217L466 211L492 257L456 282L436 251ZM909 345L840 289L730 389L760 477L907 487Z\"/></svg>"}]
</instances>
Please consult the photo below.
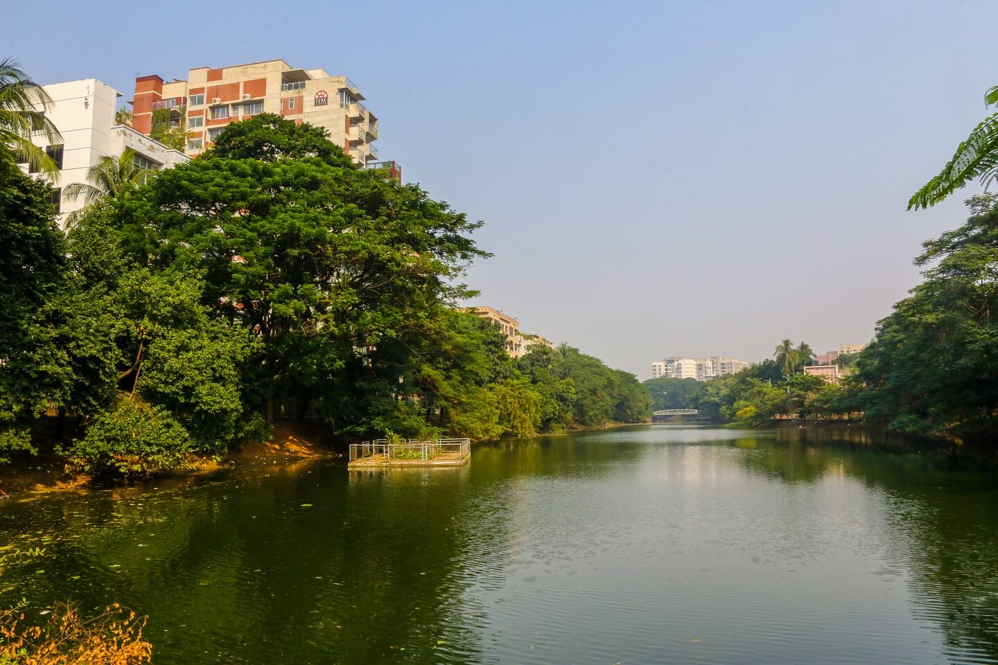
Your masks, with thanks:
<instances>
[{"instance_id":1,"label":"feathery green leaf sprig hanging against sky at right edge","mask_svg":"<svg viewBox=\"0 0 998 665\"><path fill-rule=\"evenodd\" d=\"M998 104L998 86L984 94L984 105ZM980 177L985 185L998 176L998 113L985 118L939 174L926 182L908 200L908 209L935 205L964 184Z\"/></svg>"}]
</instances>

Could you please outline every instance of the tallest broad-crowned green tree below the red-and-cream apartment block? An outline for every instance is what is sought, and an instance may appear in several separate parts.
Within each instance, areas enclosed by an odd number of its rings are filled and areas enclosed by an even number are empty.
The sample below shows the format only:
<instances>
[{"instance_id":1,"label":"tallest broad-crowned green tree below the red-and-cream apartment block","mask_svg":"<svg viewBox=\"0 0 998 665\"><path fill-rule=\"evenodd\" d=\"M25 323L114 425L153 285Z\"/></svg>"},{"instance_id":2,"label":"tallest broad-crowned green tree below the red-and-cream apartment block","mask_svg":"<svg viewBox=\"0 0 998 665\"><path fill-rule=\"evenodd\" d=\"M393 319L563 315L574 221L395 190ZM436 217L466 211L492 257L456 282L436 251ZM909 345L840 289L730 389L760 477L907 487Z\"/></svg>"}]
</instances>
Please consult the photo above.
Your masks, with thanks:
<instances>
[{"instance_id":1,"label":"tallest broad-crowned green tree below the red-and-cream apartment block","mask_svg":"<svg viewBox=\"0 0 998 665\"><path fill-rule=\"evenodd\" d=\"M134 260L200 271L204 302L262 342L254 385L268 420L278 401L336 394L377 365L465 293L464 267L486 255L469 237L479 223L274 116L233 124L208 154L116 201L113 218Z\"/></svg>"}]
</instances>

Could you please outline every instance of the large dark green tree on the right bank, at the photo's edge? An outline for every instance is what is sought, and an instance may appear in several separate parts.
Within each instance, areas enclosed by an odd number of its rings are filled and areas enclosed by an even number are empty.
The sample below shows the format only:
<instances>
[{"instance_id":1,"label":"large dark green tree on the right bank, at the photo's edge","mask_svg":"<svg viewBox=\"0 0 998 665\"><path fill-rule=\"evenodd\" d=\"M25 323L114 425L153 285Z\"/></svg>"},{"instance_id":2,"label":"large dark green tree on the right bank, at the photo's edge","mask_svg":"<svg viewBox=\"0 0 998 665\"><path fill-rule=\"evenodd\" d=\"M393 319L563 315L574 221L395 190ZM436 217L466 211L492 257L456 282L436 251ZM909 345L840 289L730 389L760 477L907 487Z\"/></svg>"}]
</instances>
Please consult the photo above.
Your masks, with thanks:
<instances>
[{"instance_id":1,"label":"large dark green tree on the right bank, at the photo's edge","mask_svg":"<svg viewBox=\"0 0 998 665\"><path fill-rule=\"evenodd\" d=\"M925 280L877 325L848 383L850 410L892 429L998 433L998 196L974 196L959 228L926 241Z\"/></svg>"}]
</instances>

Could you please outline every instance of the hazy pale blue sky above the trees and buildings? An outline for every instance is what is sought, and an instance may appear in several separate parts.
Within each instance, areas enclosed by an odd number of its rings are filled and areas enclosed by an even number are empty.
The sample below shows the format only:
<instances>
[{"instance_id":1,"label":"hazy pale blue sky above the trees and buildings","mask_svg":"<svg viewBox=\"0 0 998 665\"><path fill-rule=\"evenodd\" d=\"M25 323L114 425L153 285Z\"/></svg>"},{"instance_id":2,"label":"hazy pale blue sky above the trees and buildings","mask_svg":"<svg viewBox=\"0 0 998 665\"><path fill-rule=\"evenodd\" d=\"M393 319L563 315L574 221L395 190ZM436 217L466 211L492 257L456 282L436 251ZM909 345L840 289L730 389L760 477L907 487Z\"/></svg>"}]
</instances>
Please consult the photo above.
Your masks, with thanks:
<instances>
[{"instance_id":1,"label":"hazy pale blue sky above the trees and buildings","mask_svg":"<svg viewBox=\"0 0 998 665\"><path fill-rule=\"evenodd\" d=\"M998 84L994 0L100 6L13 3L0 55L127 95L271 58L346 74L382 159L486 221L476 302L641 378L868 340L964 218L962 193L904 207Z\"/></svg>"}]
</instances>

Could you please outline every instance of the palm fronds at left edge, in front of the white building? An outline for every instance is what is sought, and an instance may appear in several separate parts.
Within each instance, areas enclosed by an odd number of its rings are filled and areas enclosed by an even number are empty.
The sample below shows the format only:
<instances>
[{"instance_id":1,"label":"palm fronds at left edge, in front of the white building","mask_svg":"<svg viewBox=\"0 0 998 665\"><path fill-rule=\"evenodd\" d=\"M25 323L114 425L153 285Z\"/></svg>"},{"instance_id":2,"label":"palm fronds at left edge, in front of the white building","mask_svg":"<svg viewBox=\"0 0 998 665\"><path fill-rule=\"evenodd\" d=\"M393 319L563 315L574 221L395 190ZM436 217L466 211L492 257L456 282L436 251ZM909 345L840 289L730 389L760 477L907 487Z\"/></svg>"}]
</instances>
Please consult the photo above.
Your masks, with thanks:
<instances>
[{"instance_id":1,"label":"palm fronds at left edge, in front of the white building","mask_svg":"<svg viewBox=\"0 0 998 665\"><path fill-rule=\"evenodd\" d=\"M32 137L42 137L49 145L62 142L59 130L45 117L51 105L45 89L19 64L10 58L0 60L0 158L13 157L49 175L59 173L52 158L31 142Z\"/></svg>"}]
</instances>

